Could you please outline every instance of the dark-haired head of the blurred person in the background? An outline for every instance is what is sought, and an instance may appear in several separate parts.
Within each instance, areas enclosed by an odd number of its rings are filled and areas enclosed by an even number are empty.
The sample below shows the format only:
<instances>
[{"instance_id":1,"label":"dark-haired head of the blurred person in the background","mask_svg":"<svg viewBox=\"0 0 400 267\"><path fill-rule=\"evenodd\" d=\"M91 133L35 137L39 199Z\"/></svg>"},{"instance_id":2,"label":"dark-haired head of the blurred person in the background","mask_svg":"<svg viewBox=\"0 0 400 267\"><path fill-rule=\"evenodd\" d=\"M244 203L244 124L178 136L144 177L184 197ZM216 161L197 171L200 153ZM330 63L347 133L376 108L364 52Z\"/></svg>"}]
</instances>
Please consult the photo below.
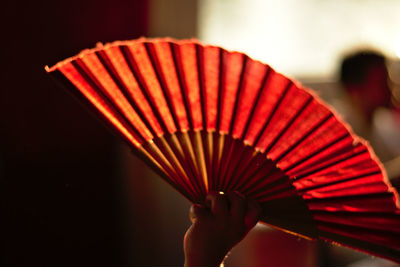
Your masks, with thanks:
<instances>
[{"instance_id":1,"label":"dark-haired head of the blurred person in the background","mask_svg":"<svg viewBox=\"0 0 400 267\"><path fill-rule=\"evenodd\" d=\"M367 116L378 107L390 105L385 57L378 52L360 51L345 57L340 81Z\"/></svg>"}]
</instances>

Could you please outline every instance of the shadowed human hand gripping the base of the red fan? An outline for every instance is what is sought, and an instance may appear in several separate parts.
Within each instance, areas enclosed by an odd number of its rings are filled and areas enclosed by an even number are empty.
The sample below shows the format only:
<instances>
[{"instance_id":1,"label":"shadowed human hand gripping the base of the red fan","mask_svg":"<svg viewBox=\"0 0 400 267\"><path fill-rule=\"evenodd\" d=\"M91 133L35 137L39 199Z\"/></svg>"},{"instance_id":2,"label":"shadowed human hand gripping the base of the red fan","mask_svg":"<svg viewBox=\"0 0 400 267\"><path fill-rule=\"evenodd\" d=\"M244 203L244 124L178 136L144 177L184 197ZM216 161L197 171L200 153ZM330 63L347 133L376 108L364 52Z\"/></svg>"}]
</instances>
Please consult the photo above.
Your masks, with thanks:
<instances>
[{"instance_id":1,"label":"shadowed human hand gripping the base of the red fan","mask_svg":"<svg viewBox=\"0 0 400 267\"><path fill-rule=\"evenodd\" d=\"M192 225L184 239L185 267L219 266L256 225L261 208L238 192L210 193L205 205L190 208Z\"/></svg>"}]
</instances>

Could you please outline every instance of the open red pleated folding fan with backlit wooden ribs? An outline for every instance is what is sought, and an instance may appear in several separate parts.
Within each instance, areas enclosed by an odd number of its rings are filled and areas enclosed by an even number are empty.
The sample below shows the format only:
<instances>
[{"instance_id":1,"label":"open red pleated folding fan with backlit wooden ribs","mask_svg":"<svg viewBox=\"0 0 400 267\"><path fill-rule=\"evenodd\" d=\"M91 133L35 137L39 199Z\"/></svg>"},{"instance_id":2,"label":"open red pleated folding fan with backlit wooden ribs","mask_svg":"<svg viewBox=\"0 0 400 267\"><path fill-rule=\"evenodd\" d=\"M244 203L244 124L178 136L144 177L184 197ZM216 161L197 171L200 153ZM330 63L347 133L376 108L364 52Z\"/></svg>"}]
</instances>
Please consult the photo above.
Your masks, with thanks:
<instances>
[{"instance_id":1,"label":"open red pleated folding fan with backlit wooden ribs","mask_svg":"<svg viewBox=\"0 0 400 267\"><path fill-rule=\"evenodd\" d=\"M311 91L195 40L99 45L47 68L191 202L239 191L262 221L400 262L400 209L371 148Z\"/></svg>"}]
</instances>

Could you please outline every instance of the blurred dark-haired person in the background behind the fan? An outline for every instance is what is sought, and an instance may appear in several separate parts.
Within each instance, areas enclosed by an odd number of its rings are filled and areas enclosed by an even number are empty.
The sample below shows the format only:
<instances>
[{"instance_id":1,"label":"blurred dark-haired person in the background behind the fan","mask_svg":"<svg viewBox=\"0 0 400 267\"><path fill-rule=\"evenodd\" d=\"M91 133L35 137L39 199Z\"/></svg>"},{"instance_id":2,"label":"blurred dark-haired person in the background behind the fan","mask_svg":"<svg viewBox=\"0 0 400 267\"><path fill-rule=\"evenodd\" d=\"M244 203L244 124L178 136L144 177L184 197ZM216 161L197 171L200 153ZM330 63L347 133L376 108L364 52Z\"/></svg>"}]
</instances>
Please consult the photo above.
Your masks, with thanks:
<instances>
[{"instance_id":1,"label":"blurred dark-haired person in the background behind the fan","mask_svg":"<svg viewBox=\"0 0 400 267\"><path fill-rule=\"evenodd\" d=\"M389 178L397 180L400 112L392 101L386 61L383 54L372 50L346 56L340 66L340 82L347 97L337 108L355 133L370 142Z\"/></svg>"}]
</instances>

